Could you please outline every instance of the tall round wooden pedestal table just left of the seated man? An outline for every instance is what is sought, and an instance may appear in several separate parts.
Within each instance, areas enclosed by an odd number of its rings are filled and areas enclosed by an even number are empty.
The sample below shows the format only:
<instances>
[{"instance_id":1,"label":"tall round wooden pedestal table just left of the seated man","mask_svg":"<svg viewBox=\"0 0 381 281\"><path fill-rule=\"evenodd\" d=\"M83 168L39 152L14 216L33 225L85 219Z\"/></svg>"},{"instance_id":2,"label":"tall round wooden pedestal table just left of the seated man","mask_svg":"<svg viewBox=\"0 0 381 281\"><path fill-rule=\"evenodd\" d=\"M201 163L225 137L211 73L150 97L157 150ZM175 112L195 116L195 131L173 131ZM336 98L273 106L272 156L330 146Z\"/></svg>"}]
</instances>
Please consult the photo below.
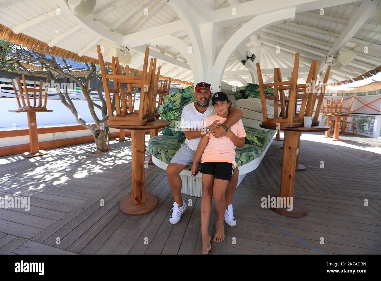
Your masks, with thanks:
<instances>
[{"instance_id":1,"label":"tall round wooden pedestal table just left of the seated man","mask_svg":"<svg viewBox=\"0 0 381 281\"><path fill-rule=\"evenodd\" d=\"M120 210L127 215L143 215L151 212L157 206L157 198L150 194L146 194L146 169L144 168L145 160L145 132L146 129L155 130L169 126L169 121L155 120L149 121L144 126L122 126L108 125L105 126L115 129L131 130L132 142L132 193L126 195L119 203Z\"/></svg>"}]
</instances>

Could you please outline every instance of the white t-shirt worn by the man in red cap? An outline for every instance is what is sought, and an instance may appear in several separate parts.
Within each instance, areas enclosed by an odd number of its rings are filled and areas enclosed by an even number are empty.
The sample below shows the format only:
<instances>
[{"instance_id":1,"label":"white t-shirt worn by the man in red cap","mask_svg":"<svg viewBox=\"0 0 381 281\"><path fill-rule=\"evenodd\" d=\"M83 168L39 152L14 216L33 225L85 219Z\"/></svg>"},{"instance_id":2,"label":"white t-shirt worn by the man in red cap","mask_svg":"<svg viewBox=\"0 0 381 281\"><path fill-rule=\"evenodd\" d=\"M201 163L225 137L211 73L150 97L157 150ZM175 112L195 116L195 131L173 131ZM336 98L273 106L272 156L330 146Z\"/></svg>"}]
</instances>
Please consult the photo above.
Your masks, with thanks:
<instances>
[{"instance_id":1,"label":"white t-shirt worn by the man in red cap","mask_svg":"<svg viewBox=\"0 0 381 281\"><path fill-rule=\"evenodd\" d=\"M209 101L209 106L204 113L197 111L197 109L194 107L194 102L192 102L182 109L180 128L193 128L195 131L199 131L201 128L203 128L205 118L214 113L216 113L216 111L211 101ZM188 145L188 147L192 150L197 150L200 140L201 137L197 139L186 138L184 144Z\"/></svg>"}]
</instances>

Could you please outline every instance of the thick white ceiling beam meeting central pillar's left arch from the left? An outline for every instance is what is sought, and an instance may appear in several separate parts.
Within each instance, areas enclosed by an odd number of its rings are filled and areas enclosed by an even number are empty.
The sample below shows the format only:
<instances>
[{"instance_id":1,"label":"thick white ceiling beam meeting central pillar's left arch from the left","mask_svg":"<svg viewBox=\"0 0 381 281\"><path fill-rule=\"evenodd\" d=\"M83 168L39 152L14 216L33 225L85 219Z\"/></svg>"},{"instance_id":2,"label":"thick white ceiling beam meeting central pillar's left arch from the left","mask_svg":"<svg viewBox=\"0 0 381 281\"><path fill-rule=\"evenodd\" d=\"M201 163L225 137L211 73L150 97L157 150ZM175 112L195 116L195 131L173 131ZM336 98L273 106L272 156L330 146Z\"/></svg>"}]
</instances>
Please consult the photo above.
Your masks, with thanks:
<instances>
[{"instance_id":1,"label":"thick white ceiling beam meeting central pillar's left arch from the left","mask_svg":"<svg viewBox=\"0 0 381 281\"><path fill-rule=\"evenodd\" d=\"M142 31L130 33L122 37L123 46L134 48L136 46L150 44L151 39L167 35L184 36L187 32L181 20L172 21L160 26L152 27Z\"/></svg>"}]
</instances>

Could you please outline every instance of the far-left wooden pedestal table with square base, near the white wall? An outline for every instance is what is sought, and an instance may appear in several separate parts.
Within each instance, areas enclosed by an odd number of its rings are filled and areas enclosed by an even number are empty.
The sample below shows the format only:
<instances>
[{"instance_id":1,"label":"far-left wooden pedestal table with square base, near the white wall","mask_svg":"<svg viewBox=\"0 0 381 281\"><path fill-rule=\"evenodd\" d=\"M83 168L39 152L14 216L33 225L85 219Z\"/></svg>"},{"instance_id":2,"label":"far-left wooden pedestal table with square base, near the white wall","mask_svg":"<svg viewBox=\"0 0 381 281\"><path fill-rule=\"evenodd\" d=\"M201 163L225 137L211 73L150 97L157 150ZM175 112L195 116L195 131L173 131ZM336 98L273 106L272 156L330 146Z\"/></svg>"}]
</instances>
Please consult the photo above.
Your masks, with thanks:
<instances>
[{"instance_id":1,"label":"far-left wooden pedestal table with square base, near the white wall","mask_svg":"<svg viewBox=\"0 0 381 281\"><path fill-rule=\"evenodd\" d=\"M29 146L30 151L24 152L22 155L26 158L36 157L41 155L46 155L48 152L45 150L40 150L40 145L38 145L38 134L37 134L37 122L36 122L36 112L52 112L53 110L8 110L9 112L23 112L28 115L28 129L29 129Z\"/></svg>"}]
</instances>

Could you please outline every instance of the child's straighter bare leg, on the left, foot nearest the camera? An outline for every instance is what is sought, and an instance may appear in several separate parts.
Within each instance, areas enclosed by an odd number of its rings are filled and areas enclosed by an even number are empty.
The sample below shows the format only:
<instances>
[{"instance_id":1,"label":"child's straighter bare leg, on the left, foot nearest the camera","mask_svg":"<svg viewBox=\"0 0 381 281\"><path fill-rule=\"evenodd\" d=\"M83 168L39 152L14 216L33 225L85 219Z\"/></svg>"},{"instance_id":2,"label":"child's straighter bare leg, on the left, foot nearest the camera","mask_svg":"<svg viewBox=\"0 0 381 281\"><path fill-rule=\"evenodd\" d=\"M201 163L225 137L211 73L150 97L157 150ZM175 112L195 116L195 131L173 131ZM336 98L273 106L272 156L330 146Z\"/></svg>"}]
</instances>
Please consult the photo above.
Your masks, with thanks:
<instances>
[{"instance_id":1,"label":"child's straighter bare leg, on the left, foot nearest the camera","mask_svg":"<svg viewBox=\"0 0 381 281\"><path fill-rule=\"evenodd\" d=\"M202 174L202 197L201 197L201 235L202 253L208 254L211 249L209 234L209 219L212 208L213 180L211 174Z\"/></svg>"}]
</instances>

